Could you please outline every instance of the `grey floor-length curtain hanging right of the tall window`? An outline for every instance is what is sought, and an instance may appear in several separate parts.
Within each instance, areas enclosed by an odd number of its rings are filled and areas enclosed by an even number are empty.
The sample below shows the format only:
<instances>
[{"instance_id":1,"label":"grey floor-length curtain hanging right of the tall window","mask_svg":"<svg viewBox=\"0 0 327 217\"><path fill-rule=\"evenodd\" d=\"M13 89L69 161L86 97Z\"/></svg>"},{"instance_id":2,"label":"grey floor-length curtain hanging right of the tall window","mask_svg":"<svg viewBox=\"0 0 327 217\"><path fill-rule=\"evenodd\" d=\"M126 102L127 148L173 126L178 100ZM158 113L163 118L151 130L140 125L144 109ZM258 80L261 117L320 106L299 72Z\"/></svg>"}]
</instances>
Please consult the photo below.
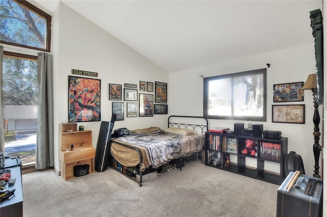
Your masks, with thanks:
<instances>
[{"instance_id":1,"label":"grey floor-length curtain hanging right of the tall window","mask_svg":"<svg viewBox=\"0 0 327 217\"><path fill-rule=\"evenodd\" d=\"M38 115L35 169L54 166L53 146L53 60L50 53L37 55Z\"/></svg>"}]
</instances>

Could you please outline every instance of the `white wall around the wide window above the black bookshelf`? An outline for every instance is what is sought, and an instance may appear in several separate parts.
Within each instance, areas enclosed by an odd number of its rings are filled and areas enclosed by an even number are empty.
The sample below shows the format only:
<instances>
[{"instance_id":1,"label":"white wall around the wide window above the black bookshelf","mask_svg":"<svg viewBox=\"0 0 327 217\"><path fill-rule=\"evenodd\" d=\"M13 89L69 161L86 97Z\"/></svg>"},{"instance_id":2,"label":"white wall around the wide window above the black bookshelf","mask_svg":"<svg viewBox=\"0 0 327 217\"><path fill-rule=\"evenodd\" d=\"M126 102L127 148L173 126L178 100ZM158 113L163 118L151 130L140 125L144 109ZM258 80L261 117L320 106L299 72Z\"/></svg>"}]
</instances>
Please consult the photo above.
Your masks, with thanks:
<instances>
[{"instance_id":1,"label":"white wall around the wide window above the black bookshelf","mask_svg":"<svg viewBox=\"0 0 327 217\"><path fill-rule=\"evenodd\" d=\"M267 68L267 63L270 64L270 68ZM169 113L174 115L203 115L203 79L200 75L210 77L261 68L267 68L267 121L251 122L263 124L264 130L282 131L282 136L288 138L288 152L295 151L300 154L306 174L312 176L314 170L312 92L305 91L303 102L273 103L273 84L306 82L308 75L315 73L313 43L170 73L168 99L169 104L173 106L170 106ZM306 104L306 124L272 123L272 104ZM321 106L319 109L322 109ZM322 112L320 114L322 117ZM209 127L227 126L231 129L233 129L234 123L248 123L247 121L214 119L210 119L208 122ZM272 167L273 170L275 166Z\"/></svg>"}]
</instances>

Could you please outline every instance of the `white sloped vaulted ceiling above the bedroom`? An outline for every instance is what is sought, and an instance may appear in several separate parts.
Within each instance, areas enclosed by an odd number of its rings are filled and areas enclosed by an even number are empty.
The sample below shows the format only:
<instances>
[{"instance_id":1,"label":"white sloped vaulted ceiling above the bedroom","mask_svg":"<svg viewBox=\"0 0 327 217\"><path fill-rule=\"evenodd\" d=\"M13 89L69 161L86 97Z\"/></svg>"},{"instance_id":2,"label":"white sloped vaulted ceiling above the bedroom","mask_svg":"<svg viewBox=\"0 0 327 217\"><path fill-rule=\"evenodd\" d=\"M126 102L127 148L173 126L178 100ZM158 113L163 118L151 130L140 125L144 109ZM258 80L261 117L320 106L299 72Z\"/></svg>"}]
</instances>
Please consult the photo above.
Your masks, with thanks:
<instances>
[{"instance_id":1,"label":"white sloped vaulted ceiling above the bedroom","mask_svg":"<svg viewBox=\"0 0 327 217\"><path fill-rule=\"evenodd\" d=\"M35 1L54 12L59 1ZM61 1L168 72L313 42L315 1Z\"/></svg>"}]
</instances>

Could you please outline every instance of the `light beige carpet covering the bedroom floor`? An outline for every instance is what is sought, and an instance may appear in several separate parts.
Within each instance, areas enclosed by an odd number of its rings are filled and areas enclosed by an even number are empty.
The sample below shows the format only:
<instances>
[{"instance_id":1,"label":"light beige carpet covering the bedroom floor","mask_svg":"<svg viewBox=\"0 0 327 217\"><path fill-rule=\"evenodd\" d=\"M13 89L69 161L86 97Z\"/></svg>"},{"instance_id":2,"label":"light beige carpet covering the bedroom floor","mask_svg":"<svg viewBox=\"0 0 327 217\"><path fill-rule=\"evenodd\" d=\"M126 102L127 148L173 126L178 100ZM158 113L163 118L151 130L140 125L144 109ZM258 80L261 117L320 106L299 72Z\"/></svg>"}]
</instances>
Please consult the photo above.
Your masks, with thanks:
<instances>
[{"instance_id":1,"label":"light beige carpet covering the bedroom floor","mask_svg":"<svg viewBox=\"0 0 327 217\"><path fill-rule=\"evenodd\" d=\"M185 162L138 183L108 168L64 181L53 170L22 175L24 216L276 216L278 185Z\"/></svg>"}]
</instances>

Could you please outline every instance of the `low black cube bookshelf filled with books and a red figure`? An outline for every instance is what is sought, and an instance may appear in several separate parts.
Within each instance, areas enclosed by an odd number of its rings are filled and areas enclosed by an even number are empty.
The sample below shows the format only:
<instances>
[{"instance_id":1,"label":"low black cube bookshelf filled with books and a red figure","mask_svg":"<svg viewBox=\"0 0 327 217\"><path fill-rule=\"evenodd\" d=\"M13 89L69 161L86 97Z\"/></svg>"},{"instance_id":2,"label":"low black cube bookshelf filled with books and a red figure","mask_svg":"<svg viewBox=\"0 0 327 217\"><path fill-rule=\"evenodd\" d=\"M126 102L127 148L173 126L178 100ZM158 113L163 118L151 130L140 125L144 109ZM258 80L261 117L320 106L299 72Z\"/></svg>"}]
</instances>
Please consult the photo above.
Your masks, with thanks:
<instances>
[{"instance_id":1,"label":"low black cube bookshelf filled with books and a red figure","mask_svg":"<svg viewBox=\"0 0 327 217\"><path fill-rule=\"evenodd\" d=\"M249 140L255 144L255 155L242 153ZM285 137L267 139L250 135L206 132L205 165L280 185L286 178L284 156L288 153L287 142L288 139ZM226 162L226 155L229 157L229 163ZM248 166L247 160L252 160L252 164L255 160L256 168ZM265 170L266 161L278 164L279 173Z\"/></svg>"}]
</instances>

